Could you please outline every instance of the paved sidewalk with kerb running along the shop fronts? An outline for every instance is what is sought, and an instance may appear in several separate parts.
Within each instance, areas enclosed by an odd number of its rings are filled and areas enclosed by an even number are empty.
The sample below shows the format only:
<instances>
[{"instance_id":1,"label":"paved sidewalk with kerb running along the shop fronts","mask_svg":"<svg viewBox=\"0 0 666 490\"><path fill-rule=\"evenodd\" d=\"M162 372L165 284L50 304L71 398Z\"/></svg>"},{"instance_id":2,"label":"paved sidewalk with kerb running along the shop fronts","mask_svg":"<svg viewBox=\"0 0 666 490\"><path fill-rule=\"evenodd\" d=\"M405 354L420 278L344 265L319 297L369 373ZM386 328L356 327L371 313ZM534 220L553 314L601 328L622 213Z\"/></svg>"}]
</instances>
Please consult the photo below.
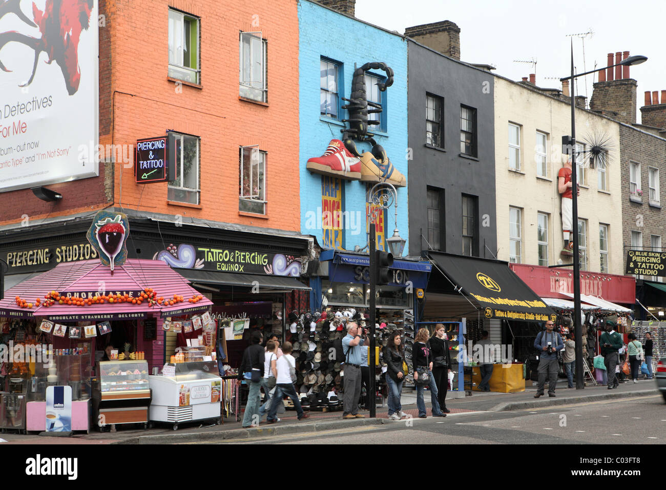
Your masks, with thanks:
<instances>
[{"instance_id":1,"label":"paved sidewalk with kerb running along the shop fronts","mask_svg":"<svg viewBox=\"0 0 666 490\"><path fill-rule=\"evenodd\" d=\"M604 399L623 397L649 396L657 393L655 381L640 380L638 383L623 383L617 389L607 390L605 386L587 386L584 390L567 389L566 380L559 381L555 397L534 398L536 385L528 386L519 393L482 393L473 391L472 396L458 399L447 399L446 406L451 413L448 416L479 413L484 411L511 411L547 407L550 405L566 405L571 403L590 403ZM430 405L430 394L426 393L426 406ZM406 389L402 393L402 410L418 417L416 407L416 390ZM222 441L227 439L246 439L248 437L265 437L285 433L318 432L340 427L358 425L375 425L392 423L388 421L388 408L378 406L376 419L368 417L368 411L360 411L366 415L364 419L342 420L342 410L331 412L310 411L310 417L302 421L296 419L296 413L287 410L279 423L266 424L265 419L259 427L243 429L234 417L224 420L222 425L202 425L197 422L181 423L180 430L173 431L168 424L156 423L153 429L125 429L119 426L115 433L100 433L92 430L90 434L75 433L72 437L49 437L40 435L19 435L13 433L0 434L11 444L169 444L197 441ZM241 414L242 415L242 414ZM428 416L432 411L428 408ZM442 419L445 421L446 419Z\"/></svg>"}]
</instances>

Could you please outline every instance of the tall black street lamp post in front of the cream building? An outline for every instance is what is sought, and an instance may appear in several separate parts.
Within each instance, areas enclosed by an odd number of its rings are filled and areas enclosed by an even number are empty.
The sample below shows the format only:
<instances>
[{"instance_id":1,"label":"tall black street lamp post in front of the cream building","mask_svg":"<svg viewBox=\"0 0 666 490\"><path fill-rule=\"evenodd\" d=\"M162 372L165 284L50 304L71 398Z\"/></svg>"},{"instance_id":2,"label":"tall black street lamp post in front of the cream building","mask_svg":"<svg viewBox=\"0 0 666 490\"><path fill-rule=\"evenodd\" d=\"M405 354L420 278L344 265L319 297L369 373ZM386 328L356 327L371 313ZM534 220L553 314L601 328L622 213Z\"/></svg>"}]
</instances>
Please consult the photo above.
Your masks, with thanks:
<instances>
[{"instance_id":1,"label":"tall black street lamp post in front of the cream building","mask_svg":"<svg viewBox=\"0 0 666 490\"><path fill-rule=\"evenodd\" d=\"M615 65L586 71L585 73L573 73L573 41L571 41L571 76L559 79L560 81L571 80L571 139L568 146L571 148L571 222L573 231L573 329L576 343L576 389L585 388L585 378L583 373L583 330L581 328L581 281L580 281L580 255L578 249L578 180L576 165L576 123L575 123L575 93L573 79L595 73L595 71L613 68L618 65L631 66L639 65L647 61L645 56L630 56L623 59Z\"/></svg>"}]
</instances>

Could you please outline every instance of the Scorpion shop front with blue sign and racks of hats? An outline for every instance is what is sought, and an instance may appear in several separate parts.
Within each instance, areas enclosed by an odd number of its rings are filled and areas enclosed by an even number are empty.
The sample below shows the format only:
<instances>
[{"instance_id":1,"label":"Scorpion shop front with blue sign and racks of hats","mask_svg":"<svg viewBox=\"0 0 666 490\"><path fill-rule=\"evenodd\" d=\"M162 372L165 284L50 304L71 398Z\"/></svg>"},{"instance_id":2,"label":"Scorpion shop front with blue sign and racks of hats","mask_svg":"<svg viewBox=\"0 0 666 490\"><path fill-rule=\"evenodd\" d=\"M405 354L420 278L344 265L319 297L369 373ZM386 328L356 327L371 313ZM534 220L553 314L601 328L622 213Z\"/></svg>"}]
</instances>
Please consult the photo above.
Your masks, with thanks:
<instances>
[{"instance_id":1,"label":"Scorpion shop front with blue sign and racks of hats","mask_svg":"<svg viewBox=\"0 0 666 490\"><path fill-rule=\"evenodd\" d=\"M406 383L413 385L412 373L412 343L414 339L414 322L416 306L420 303L418 296L428 285L428 275L432 266L424 261L408 259L395 259L390 267L390 282L386 285L377 286L376 297L376 366L375 371L367 367L364 376L370 373L378 375L377 395L386 396L386 385L383 373L386 373L386 365L383 362L384 346L389 335L393 331L400 331L404 335L405 353L408 357L409 374ZM300 365L304 366L304 383L300 386L302 393L312 391L330 392L331 389L340 388L340 363L330 362L315 363L311 366L308 362L309 349L312 348L315 355L332 352L334 343L346 335L345 323L350 319L356 319L361 326L370 328L370 259L368 255L325 250L320 254L320 265L318 275L310 279L313 290L313 302L310 310L312 314L319 314L324 321L312 323L312 331L309 328L301 329L300 321L292 323L290 335L294 342L302 349ZM306 313L307 315L307 313ZM336 321L336 319L340 319ZM308 322L305 322L308 323ZM321 324L321 325L320 325ZM307 325L305 325L307 327ZM323 332L323 335L322 335ZM326 356L324 356L326 357ZM367 371L367 372L366 372ZM311 385L308 376L314 374L316 379L322 379L322 383ZM329 376L330 375L330 376ZM370 403L370 396L364 401L364 405Z\"/></svg>"}]
</instances>

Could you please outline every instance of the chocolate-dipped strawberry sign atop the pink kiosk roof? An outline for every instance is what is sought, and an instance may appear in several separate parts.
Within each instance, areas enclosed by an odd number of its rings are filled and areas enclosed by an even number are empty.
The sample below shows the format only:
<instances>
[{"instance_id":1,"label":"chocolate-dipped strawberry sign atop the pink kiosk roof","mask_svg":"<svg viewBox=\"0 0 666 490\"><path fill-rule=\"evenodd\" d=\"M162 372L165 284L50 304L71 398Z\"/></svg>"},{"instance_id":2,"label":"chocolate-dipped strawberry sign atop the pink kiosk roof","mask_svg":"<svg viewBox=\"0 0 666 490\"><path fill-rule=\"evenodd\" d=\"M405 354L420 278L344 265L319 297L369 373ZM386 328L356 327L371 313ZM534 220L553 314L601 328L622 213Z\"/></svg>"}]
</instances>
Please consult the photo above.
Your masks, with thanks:
<instances>
[{"instance_id":1,"label":"chocolate-dipped strawberry sign atop the pink kiosk roof","mask_svg":"<svg viewBox=\"0 0 666 490\"><path fill-rule=\"evenodd\" d=\"M114 211L99 211L87 233L87 239L95 247L104 265L113 271L114 265L127 260L125 241L129 235L127 215Z\"/></svg>"}]
</instances>

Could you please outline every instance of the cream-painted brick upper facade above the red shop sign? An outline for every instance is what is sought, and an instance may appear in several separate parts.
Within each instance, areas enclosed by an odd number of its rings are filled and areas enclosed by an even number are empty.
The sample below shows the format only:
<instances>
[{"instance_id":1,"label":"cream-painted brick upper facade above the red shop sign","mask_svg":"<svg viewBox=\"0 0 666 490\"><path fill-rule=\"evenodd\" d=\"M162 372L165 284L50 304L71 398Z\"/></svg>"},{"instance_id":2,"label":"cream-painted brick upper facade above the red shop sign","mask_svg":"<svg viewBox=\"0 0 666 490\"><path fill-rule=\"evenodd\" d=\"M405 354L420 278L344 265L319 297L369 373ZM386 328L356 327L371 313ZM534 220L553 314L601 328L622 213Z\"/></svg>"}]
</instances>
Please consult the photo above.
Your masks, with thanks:
<instances>
[{"instance_id":1,"label":"cream-painted brick upper facade above the red shop sign","mask_svg":"<svg viewBox=\"0 0 666 490\"><path fill-rule=\"evenodd\" d=\"M561 138L571 134L571 105L558 91L544 91L524 79L516 83L496 76L494 83L498 259L570 263L571 257L560 254L564 241L557 172L567 158L561 153ZM585 251L581 270L623 274L619 124L575 110L577 141L603 135L611 147L605 172L597 164L584 168L581 179L579 170L580 246Z\"/></svg>"}]
</instances>

